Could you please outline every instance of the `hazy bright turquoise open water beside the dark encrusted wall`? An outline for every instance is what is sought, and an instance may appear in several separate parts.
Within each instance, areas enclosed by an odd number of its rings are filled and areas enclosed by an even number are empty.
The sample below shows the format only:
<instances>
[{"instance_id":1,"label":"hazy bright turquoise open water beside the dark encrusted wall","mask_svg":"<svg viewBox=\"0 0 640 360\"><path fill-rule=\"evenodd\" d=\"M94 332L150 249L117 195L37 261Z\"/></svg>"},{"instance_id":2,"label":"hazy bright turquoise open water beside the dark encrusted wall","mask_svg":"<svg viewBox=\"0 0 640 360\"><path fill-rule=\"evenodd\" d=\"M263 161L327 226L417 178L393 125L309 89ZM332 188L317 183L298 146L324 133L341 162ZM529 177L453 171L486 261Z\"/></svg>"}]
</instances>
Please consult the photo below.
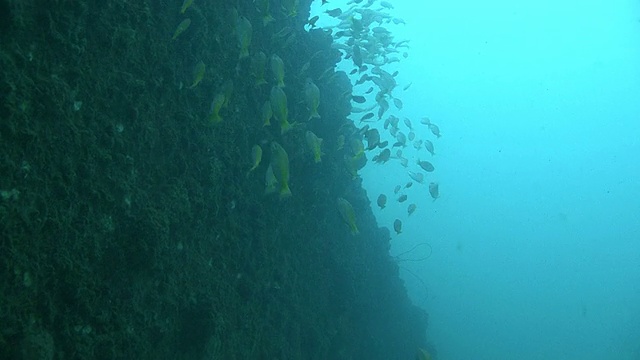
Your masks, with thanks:
<instances>
[{"instance_id":1,"label":"hazy bright turquoise open water beside the dark encrusted wall","mask_svg":"<svg viewBox=\"0 0 640 360\"><path fill-rule=\"evenodd\" d=\"M392 4L403 115L442 132L409 163L436 172L405 203L397 161L361 175L380 225L403 222L437 358L640 359L640 2Z\"/></svg>"}]
</instances>

